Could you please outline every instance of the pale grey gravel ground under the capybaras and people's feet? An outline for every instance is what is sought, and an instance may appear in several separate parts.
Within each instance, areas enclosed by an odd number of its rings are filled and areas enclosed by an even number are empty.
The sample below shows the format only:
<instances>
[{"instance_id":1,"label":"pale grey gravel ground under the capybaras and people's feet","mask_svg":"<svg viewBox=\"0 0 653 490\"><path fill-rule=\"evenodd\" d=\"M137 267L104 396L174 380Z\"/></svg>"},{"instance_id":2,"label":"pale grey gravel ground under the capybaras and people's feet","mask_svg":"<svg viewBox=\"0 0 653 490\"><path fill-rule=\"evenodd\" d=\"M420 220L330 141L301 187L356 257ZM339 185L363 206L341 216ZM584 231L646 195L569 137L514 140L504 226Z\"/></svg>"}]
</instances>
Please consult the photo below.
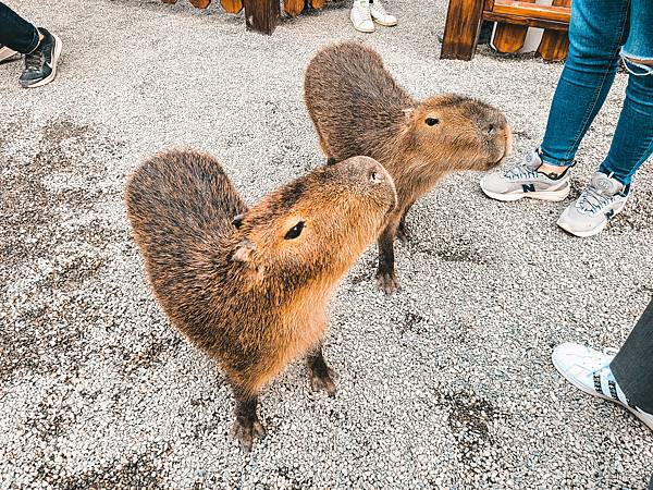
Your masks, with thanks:
<instances>
[{"instance_id":1,"label":"pale grey gravel ground under the capybaras and people's feet","mask_svg":"<svg viewBox=\"0 0 653 490\"><path fill-rule=\"evenodd\" d=\"M243 454L213 364L168 324L144 280L122 192L143 158L215 155L250 203L320 164L301 75L323 44L365 38L416 96L459 91L507 113L514 160L539 143L560 71L529 57L439 60L445 0L389 0L401 25L357 35L347 5L285 21L181 0L9 4L58 33L58 81L0 66L0 488L643 488L653 433L551 365L562 341L618 346L653 292L653 176L599 237L556 229L568 204L498 204L447 179L397 246L403 291L373 284L375 247L333 303L325 356L262 395L269 436ZM579 154L608 147L626 76ZM517 88L519 87L519 88Z\"/></svg>"}]
</instances>

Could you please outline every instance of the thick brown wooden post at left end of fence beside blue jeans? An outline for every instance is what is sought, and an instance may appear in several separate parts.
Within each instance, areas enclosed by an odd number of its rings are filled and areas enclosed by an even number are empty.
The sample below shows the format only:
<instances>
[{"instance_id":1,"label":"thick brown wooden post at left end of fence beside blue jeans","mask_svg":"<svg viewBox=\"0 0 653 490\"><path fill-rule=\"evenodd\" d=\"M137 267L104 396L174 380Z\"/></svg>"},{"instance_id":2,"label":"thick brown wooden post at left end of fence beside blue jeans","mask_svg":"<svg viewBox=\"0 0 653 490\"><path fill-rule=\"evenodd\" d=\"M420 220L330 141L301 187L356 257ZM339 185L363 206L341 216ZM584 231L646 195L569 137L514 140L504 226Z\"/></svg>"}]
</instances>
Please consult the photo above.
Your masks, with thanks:
<instances>
[{"instance_id":1,"label":"thick brown wooden post at left end of fence beside blue jeans","mask_svg":"<svg viewBox=\"0 0 653 490\"><path fill-rule=\"evenodd\" d=\"M482 14L483 0L449 0L440 58L471 60Z\"/></svg>"}]
</instances>

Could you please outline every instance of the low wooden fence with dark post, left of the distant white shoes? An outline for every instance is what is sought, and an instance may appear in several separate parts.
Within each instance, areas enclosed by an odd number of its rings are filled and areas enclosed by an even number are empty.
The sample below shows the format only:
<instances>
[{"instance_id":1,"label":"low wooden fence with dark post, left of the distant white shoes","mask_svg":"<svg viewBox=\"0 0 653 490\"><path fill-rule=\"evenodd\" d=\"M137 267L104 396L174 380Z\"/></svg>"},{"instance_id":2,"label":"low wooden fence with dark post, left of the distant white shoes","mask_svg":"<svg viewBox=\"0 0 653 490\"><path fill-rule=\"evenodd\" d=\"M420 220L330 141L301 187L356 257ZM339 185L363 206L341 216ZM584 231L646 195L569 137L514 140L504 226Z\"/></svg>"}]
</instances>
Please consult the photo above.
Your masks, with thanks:
<instances>
[{"instance_id":1,"label":"low wooden fence with dark post, left of the distant white shoes","mask_svg":"<svg viewBox=\"0 0 653 490\"><path fill-rule=\"evenodd\" d=\"M161 0L163 3L176 3L177 0ZM211 0L190 0L198 9L206 9ZM284 0L283 10L292 17L299 15L308 4L312 9L322 9L326 0ZM247 28L263 34L272 34L281 20L279 0L220 0L222 8L232 14L245 9Z\"/></svg>"}]
</instances>

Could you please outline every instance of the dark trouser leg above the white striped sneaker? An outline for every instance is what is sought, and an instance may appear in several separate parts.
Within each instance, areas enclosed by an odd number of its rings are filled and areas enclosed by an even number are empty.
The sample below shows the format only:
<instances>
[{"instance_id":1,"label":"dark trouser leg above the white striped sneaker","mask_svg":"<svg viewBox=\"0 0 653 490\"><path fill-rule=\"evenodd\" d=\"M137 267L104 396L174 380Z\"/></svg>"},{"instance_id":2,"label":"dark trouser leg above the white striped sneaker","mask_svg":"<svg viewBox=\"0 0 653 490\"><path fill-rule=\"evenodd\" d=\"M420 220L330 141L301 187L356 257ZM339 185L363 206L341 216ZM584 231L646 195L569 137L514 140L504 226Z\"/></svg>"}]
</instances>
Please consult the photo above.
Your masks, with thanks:
<instances>
[{"instance_id":1,"label":"dark trouser leg above the white striped sneaker","mask_svg":"<svg viewBox=\"0 0 653 490\"><path fill-rule=\"evenodd\" d=\"M653 299L609 367L628 401L653 414Z\"/></svg>"}]
</instances>

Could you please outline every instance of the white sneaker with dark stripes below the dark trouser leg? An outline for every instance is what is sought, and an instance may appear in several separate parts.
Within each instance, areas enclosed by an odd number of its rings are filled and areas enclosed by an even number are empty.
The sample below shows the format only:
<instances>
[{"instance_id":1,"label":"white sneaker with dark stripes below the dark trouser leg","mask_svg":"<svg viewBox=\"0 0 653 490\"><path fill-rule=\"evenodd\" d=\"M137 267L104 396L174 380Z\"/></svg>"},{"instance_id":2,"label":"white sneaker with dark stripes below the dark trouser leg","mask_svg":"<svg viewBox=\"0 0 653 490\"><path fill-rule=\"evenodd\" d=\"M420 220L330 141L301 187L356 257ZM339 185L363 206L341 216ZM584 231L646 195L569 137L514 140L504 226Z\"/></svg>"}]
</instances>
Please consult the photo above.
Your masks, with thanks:
<instances>
[{"instance_id":1,"label":"white sneaker with dark stripes below the dark trouser leg","mask_svg":"<svg viewBox=\"0 0 653 490\"><path fill-rule=\"evenodd\" d=\"M609 368L614 352L601 353L579 344L565 343L553 350L553 365L567 381L588 394L618 403L653 430L653 414L626 397Z\"/></svg>"}]
</instances>

